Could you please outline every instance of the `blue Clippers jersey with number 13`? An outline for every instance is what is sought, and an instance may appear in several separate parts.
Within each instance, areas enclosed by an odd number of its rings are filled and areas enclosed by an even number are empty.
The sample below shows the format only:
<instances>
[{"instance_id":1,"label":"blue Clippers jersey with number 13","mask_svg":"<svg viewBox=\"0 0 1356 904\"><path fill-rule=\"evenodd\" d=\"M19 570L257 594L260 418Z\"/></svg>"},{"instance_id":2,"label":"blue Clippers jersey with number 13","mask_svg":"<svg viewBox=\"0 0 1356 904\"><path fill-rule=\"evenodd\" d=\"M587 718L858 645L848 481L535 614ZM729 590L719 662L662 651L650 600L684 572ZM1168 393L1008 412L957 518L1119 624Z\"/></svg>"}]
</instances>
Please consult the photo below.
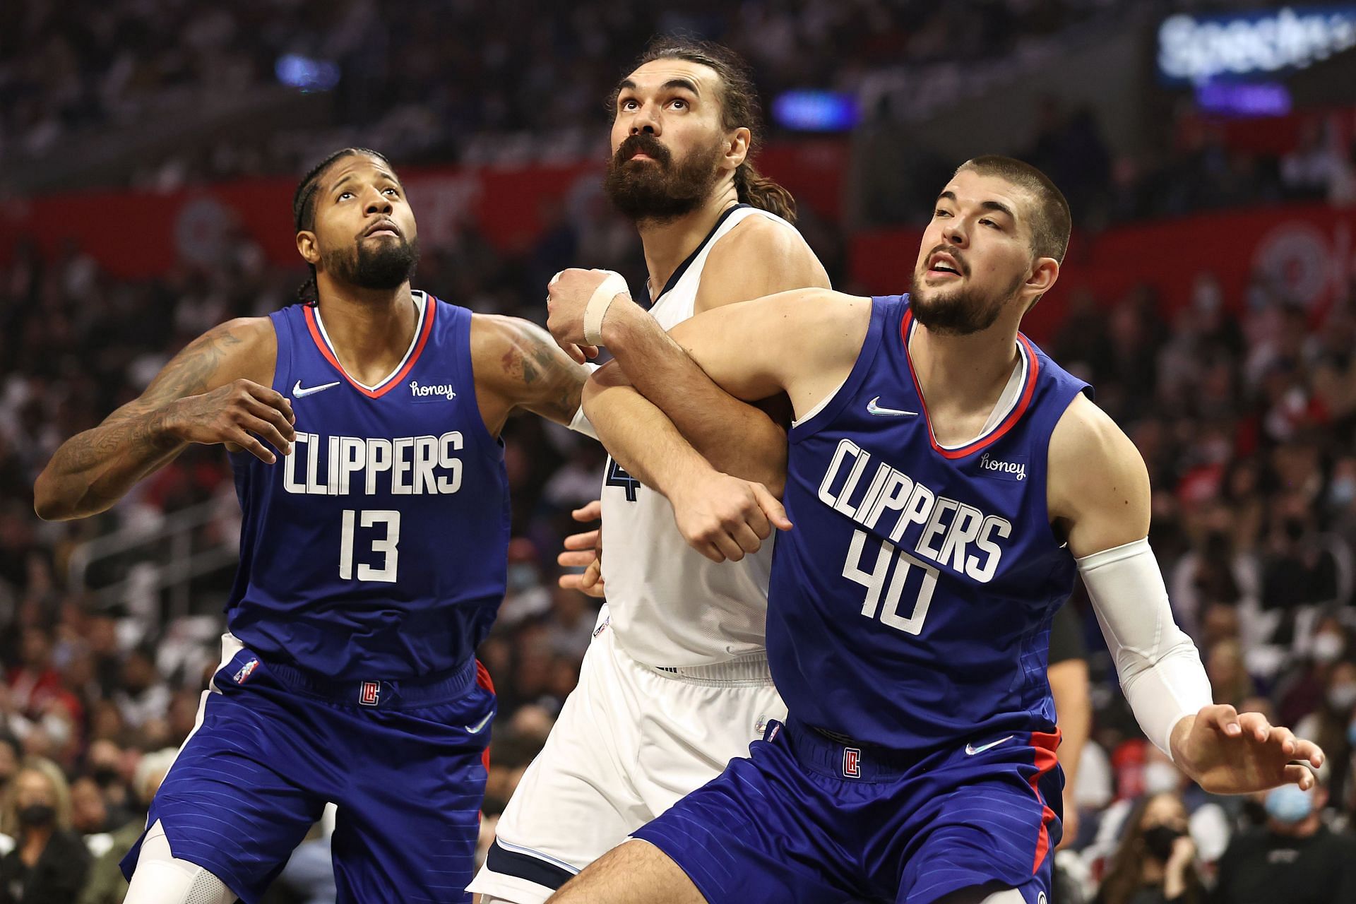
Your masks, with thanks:
<instances>
[{"instance_id":1,"label":"blue Clippers jersey with number 13","mask_svg":"<svg viewBox=\"0 0 1356 904\"><path fill-rule=\"evenodd\" d=\"M376 388L339 366L313 308L271 314L273 388L297 442L232 454L244 512L226 621L320 675L414 679L464 664L504 594L509 480L471 366L471 312L415 293L405 361Z\"/></svg>"}]
</instances>

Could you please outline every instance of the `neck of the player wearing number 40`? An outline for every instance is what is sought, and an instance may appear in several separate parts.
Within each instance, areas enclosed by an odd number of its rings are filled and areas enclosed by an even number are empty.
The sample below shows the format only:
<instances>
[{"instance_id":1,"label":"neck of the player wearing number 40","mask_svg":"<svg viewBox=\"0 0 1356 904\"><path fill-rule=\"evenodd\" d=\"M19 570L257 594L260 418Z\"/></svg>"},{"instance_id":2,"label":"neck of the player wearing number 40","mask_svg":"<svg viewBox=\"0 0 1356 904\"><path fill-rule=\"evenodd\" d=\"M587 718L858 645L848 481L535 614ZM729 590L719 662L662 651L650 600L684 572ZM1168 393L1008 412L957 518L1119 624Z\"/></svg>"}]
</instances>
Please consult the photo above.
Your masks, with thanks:
<instances>
[{"instance_id":1,"label":"neck of the player wearing number 40","mask_svg":"<svg viewBox=\"0 0 1356 904\"><path fill-rule=\"evenodd\" d=\"M968 336L940 335L918 324L909 358L929 411L991 411L1017 366L1017 321L999 319Z\"/></svg>"}]
</instances>

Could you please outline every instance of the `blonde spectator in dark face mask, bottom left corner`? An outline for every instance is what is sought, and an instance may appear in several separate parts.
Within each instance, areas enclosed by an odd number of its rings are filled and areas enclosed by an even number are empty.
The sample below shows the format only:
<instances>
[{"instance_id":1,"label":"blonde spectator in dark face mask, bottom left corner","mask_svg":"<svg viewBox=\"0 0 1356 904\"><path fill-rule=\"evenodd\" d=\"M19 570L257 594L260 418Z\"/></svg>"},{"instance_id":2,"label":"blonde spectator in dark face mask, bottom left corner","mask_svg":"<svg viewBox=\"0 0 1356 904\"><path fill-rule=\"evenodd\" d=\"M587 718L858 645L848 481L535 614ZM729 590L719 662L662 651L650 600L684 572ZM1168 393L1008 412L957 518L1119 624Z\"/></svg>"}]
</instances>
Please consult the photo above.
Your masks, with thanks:
<instances>
[{"instance_id":1,"label":"blonde spectator in dark face mask, bottom left corner","mask_svg":"<svg viewBox=\"0 0 1356 904\"><path fill-rule=\"evenodd\" d=\"M68 904L89 870L89 851L71 831L71 792L56 763L30 759L15 775L4 812L16 844L0 859L0 904Z\"/></svg>"}]
</instances>

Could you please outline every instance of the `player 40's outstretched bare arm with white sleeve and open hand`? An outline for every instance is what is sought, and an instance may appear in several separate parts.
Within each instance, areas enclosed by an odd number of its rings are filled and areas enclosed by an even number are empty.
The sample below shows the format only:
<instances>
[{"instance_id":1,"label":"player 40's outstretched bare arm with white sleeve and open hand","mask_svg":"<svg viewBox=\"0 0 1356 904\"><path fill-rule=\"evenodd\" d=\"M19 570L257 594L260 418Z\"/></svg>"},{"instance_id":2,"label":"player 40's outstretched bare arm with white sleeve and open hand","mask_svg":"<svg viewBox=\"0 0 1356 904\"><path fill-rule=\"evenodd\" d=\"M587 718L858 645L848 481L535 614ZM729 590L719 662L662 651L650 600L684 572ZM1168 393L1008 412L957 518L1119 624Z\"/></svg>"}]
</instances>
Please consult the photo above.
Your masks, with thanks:
<instances>
[{"instance_id":1,"label":"player 40's outstretched bare arm with white sleeve and open hand","mask_svg":"<svg viewBox=\"0 0 1356 904\"><path fill-rule=\"evenodd\" d=\"M1205 790L1313 785L1323 755L1260 713L1211 702L1195 644L1173 622L1149 549L1149 473L1130 438L1079 396L1050 440L1048 503L1069 538L1093 611L1140 728Z\"/></svg>"}]
</instances>

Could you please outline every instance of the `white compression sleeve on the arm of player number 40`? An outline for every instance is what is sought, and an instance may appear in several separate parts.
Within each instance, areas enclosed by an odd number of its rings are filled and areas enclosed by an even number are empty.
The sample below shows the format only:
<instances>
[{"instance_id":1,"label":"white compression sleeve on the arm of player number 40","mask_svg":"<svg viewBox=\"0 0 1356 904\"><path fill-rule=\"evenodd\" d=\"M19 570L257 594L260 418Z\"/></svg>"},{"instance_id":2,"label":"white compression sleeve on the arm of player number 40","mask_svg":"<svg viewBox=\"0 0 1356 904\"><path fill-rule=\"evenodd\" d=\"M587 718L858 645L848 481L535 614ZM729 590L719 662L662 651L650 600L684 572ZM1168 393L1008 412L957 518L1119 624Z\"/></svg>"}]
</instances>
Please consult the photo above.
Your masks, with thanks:
<instances>
[{"instance_id":1,"label":"white compression sleeve on the arm of player number 40","mask_svg":"<svg viewBox=\"0 0 1356 904\"><path fill-rule=\"evenodd\" d=\"M1214 699L1196 644L1173 621L1149 539L1077 561L1135 720L1172 758L1173 728Z\"/></svg>"}]
</instances>

